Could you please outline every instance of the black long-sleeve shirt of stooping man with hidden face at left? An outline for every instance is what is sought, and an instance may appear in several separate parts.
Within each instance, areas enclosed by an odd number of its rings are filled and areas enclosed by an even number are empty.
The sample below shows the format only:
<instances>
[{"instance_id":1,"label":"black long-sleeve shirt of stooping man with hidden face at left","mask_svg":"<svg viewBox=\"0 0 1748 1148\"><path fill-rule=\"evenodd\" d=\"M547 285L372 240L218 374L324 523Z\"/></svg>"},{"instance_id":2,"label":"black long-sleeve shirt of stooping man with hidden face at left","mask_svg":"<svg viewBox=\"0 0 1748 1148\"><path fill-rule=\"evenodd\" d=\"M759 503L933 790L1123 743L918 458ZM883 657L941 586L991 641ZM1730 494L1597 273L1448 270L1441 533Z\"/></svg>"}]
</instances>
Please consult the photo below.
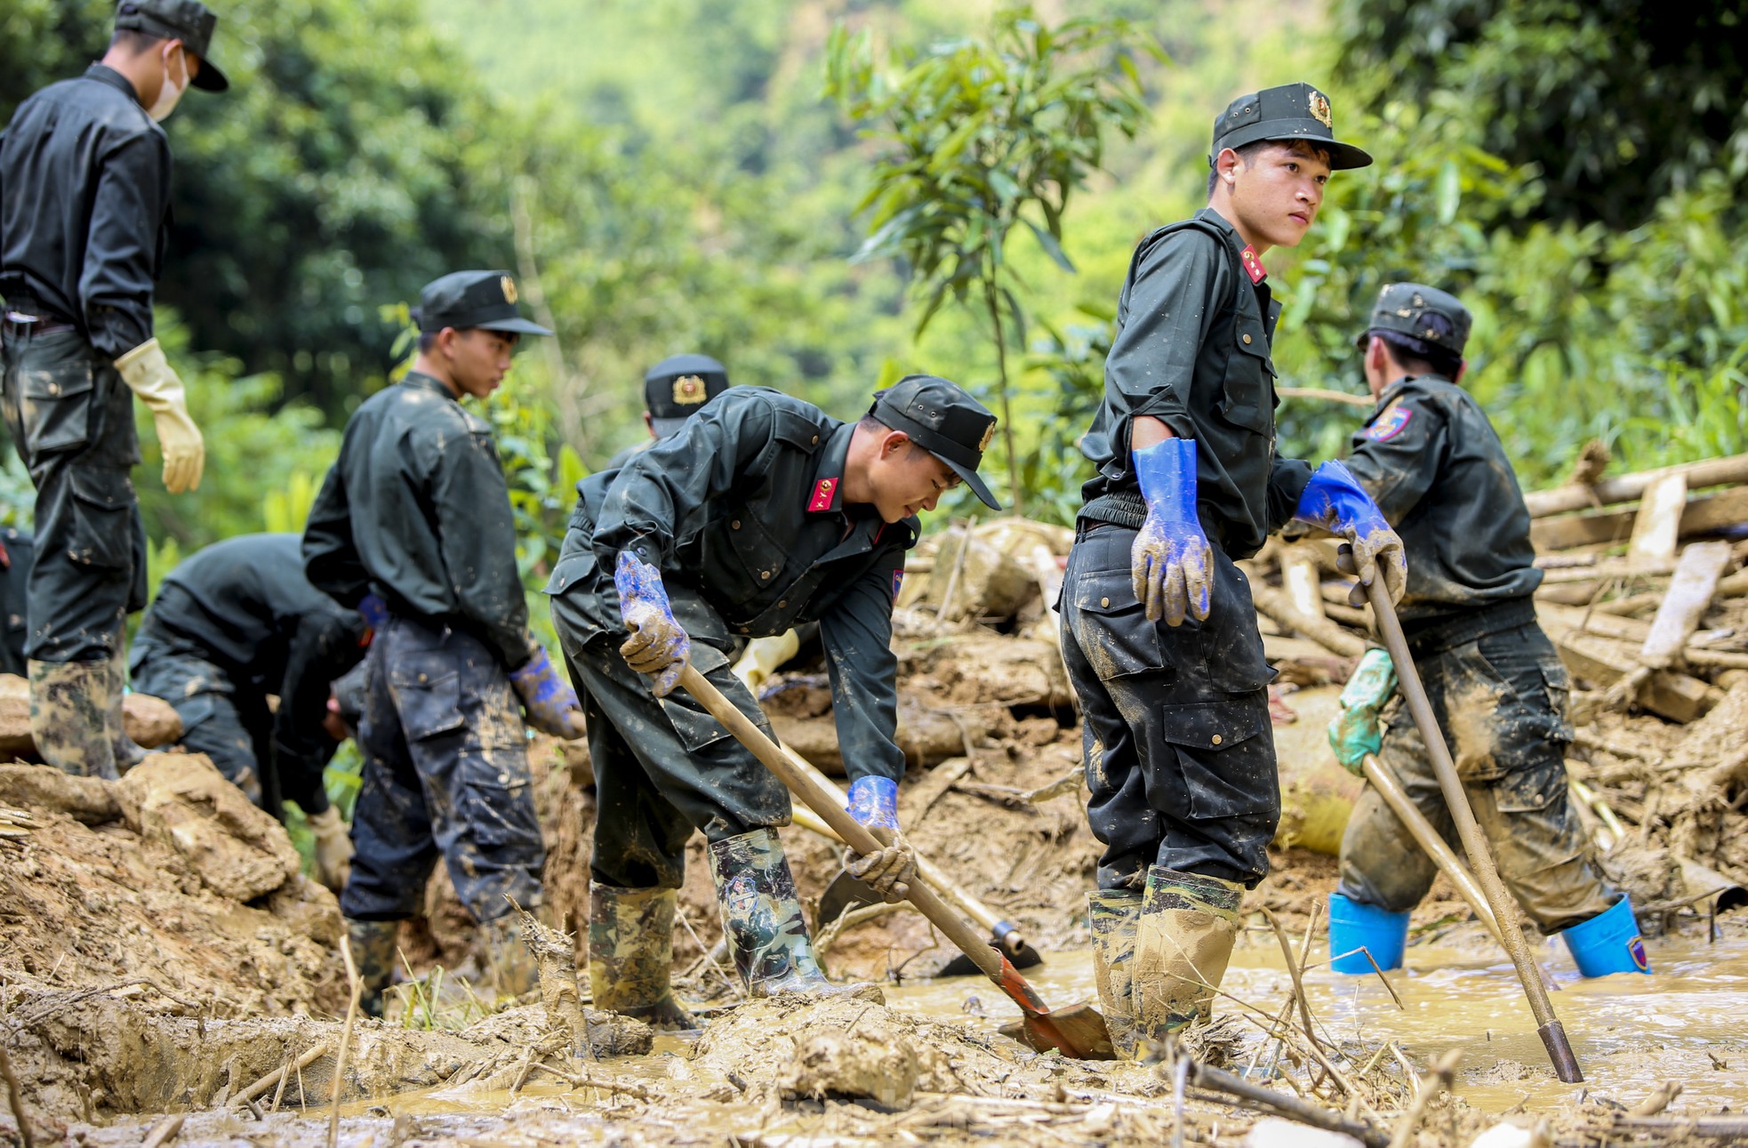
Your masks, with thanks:
<instances>
[{"instance_id":1,"label":"black long-sleeve shirt of stooping man with hidden face at left","mask_svg":"<svg viewBox=\"0 0 1748 1148\"><path fill-rule=\"evenodd\" d=\"M280 783L309 811L334 751L322 729L329 687L364 657L364 629L357 610L309 585L297 535L238 535L164 575L135 650L189 654L238 687L278 694Z\"/></svg>"}]
</instances>

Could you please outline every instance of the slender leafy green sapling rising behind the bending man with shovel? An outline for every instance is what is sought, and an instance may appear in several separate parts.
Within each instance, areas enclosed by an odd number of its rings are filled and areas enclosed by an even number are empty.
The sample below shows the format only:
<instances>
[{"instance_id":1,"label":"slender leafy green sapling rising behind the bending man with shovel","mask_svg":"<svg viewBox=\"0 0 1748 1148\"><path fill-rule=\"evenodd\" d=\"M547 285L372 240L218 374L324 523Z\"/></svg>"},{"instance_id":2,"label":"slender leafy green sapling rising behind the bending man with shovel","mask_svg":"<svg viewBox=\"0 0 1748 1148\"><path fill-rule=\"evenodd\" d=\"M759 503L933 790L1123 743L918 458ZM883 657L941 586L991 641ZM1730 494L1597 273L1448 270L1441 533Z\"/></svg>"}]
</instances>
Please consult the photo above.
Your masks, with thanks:
<instances>
[{"instance_id":1,"label":"slender leafy green sapling rising behind the bending man with shovel","mask_svg":"<svg viewBox=\"0 0 1748 1148\"><path fill-rule=\"evenodd\" d=\"M857 204L869 238L858 260L897 257L921 302L918 335L949 301L979 309L996 351L996 402L1009 500L1024 512L1014 446L1007 344L1026 344L1024 287L1007 239L1024 225L1063 271L1063 211L1105 154L1106 133L1133 138L1147 115L1131 52L1159 47L1124 19L1054 28L1031 5L995 14L988 38L897 51L884 66L872 38L832 30L827 94L886 156Z\"/></svg>"}]
</instances>

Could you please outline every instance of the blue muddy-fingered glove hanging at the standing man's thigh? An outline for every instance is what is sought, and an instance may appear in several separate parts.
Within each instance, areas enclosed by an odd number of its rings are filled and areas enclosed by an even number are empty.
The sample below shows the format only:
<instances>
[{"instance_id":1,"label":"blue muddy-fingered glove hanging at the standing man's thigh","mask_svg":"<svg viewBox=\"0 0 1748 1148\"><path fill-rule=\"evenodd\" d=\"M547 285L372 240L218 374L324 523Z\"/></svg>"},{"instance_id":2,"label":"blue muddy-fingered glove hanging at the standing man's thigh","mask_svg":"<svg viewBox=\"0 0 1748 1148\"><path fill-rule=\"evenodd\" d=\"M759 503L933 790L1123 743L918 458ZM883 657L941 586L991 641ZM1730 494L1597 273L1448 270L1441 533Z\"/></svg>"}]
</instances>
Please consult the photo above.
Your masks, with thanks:
<instances>
[{"instance_id":1,"label":"blue muddy-fingered glove hanging at the standing man's thigh","mask_svg":"<svg viewBox=\"0 0 1748 1148\"><path fill-rule=\"evenodd\" d=\"M1147 521L1129 550L1134 599L1150 622L1182 626L1208 617L1213 547L1196 514L1196 440L1166 439L1131 454Z\"/></svg>"}]
</instances>

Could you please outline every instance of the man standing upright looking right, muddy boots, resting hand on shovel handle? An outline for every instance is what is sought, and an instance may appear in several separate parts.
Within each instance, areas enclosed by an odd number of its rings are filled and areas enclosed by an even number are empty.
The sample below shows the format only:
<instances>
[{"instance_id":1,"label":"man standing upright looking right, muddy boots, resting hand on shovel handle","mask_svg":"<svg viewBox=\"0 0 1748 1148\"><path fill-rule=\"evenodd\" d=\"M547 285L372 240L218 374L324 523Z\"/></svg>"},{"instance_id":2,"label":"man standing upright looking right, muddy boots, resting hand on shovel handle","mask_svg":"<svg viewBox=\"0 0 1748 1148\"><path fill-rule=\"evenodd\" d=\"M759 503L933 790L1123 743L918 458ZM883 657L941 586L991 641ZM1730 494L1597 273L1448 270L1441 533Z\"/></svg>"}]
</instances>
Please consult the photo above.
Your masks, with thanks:
<instances>
[{"instance_id":1,"label":"man standing upright looking right, muddy boots, resting hand on shovel handle","mask_svg":"<svg viewBox=\"0 0 1748 1148\"><path fill-rule=\"evenodd\" d=\"M1208 208L1147 236L1117 301L1105 402L1063 584L1086 715L1099 999L1120 1055L1206 1015L1280 820L1267 681L1234 559L1288 519L1344 536L1402 592L1402 542L1341 463L1274 456L1280 304L1262 255L1297 246L1330 171L1372 157L1309 84L1215 121Z\"/></svg>"}]
</instances>

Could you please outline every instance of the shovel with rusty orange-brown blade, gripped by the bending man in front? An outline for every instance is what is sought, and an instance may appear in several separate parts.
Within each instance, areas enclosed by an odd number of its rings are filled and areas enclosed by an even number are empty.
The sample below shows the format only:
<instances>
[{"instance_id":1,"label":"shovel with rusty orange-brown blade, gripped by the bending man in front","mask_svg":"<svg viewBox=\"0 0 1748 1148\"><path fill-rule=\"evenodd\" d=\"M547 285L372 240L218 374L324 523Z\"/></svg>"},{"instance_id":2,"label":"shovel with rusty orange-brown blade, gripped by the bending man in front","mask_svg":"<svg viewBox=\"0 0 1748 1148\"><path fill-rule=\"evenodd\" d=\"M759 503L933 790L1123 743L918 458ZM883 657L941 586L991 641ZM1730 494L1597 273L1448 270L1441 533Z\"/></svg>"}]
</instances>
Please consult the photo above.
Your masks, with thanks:
<instances>
[{"instance_id":1,"label":"shovel with rusty orange-brown blade, gripped by the bending man in front","mask_svg":"<svg viewBox=\"0 0 1748 1148\"><path fill-rule=\"evenodd\" d=\"M717 718L725 730L734 734L736 741L764 762L764 767L776 774L778 781L787 785L804 806L820 814L820 820L830 825L832 832L844 844L857 853L877 853L883 847L867 826L860 825L841 804L832 800L830 792L822 788L820 783L795 769L783 757L776 743L766 737L764 730L736 709L734 702L724 697L717 687L710 685L704 674L697 673L694 666L687 666L680 674L680 685L697 699L697 704L710 716ZM912 881L909 900L918 912L928 917L930 924L946 933L947 940L972 959L979 972L989 977L998 989L1019 1005L1021 1013L1024 1013L1021 1031L1028 1045L1038 1052L1056 1048L1065 1055L1082 1061L1115 1059L1115 1050L1110 1043L1110 1027L1106 1027L1105 1017L1096 1008L1091 1005L1073 1005L1061 1012L1051 1012L1038 996L1038 991L1031 987L1031 982L1019 975L1014 963L1005 954L991 949L972 926L965 924L958 914L947 909L926 882Z\"/></svg>"}]
</instances>

